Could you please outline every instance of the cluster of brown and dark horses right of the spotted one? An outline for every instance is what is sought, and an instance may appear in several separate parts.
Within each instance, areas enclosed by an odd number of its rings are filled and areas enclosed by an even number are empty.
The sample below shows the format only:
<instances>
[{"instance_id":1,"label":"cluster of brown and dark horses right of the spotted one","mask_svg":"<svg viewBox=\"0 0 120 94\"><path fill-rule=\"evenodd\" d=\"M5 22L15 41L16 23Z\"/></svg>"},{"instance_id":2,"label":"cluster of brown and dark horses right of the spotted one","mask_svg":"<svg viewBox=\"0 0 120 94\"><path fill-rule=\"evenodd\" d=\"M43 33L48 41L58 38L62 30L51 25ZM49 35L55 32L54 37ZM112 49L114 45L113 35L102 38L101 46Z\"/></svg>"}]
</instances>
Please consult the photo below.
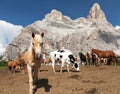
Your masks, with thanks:
<instances>
[{"instance_id":1,"label":"cluster of brown and dark horses right of the spotted one","mask_svg":"<svg viewBox=\"0 0 120 94\"><path fill-rule=\"evenodd\" d=\"M115 53L111 50L102 51L98 49L92 49L85 55L79 53L81 64L84 65L116 65L118 64Z\"/></svg>"}]
</instances>

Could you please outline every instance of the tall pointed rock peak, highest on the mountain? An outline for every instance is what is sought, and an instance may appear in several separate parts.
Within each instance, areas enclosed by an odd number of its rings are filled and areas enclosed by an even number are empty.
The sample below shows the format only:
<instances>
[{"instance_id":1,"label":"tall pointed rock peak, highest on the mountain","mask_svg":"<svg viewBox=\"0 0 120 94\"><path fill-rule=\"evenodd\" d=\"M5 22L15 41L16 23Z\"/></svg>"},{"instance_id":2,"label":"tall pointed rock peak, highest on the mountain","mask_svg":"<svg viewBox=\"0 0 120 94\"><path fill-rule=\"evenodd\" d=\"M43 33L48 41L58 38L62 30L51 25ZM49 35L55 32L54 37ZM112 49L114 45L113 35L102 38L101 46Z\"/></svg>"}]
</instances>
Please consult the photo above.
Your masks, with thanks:
<instances>
[{"instance_id":1,"label":"tall pointed rock peak, highest on the mountain","mask_svg":"<svg viewBox=\"0 0 120 94\"><path fill-rule=\"evenodd\" d=\"M95 3L91 10L89 11L89 15L87 17L89 21L107 21L104 12L101 10L100 5Z\"/></svg>"}]
</instances>

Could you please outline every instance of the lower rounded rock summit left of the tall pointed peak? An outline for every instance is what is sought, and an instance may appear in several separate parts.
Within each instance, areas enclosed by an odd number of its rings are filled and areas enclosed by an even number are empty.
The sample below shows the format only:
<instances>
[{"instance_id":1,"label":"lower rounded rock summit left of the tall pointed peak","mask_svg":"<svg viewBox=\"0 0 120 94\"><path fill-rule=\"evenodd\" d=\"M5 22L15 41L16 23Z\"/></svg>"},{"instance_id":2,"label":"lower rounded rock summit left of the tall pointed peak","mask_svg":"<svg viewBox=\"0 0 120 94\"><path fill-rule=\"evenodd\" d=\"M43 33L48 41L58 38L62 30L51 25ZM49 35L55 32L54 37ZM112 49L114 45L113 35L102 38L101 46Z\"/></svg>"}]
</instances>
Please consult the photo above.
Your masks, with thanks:
<instances>
[{"instance_id":1,"label":"lower rounded rock summit left of the tall pointed peak","mask_svg":"<svg viewBox=\"0 0 120 94\"><path fill-rule=\"evenodd\" d=\"M60 11L57 11L56 9L53 9L51 11L51 13L47 14L45 16L46 19L55 19L55 20L62 20L63 16L62 16L62 13Z\"/></svg>"}]
</instances>

